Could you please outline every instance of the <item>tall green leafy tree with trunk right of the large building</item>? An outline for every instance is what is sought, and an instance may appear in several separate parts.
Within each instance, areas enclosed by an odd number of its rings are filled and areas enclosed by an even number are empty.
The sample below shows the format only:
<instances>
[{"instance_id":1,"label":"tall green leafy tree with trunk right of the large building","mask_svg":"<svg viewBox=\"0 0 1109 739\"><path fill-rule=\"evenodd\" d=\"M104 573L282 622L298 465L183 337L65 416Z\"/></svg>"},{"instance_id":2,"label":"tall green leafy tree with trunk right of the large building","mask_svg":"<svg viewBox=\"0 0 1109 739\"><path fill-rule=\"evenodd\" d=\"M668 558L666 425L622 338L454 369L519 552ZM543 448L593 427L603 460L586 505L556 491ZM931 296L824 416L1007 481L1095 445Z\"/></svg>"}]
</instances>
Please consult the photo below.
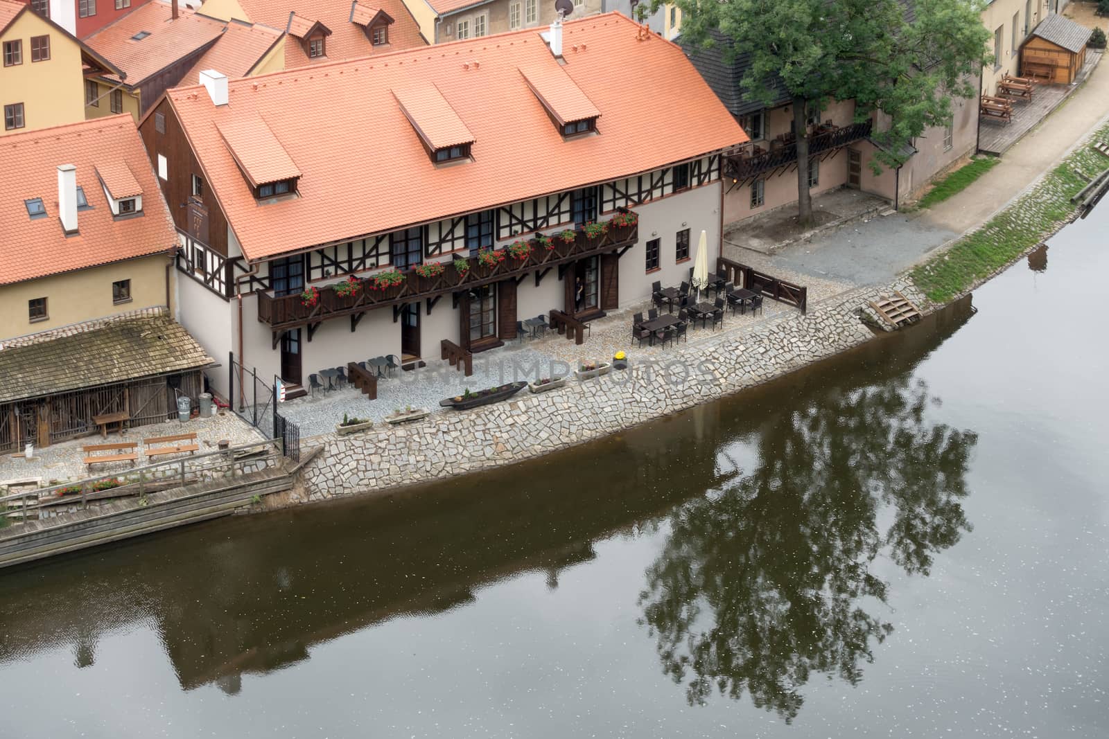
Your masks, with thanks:
<instances>
[{"instance_id":1,"label":"tall green leafy tree with trunk right of the large building","mask_svg":"<svg viewBox=\"0 0 1109 739\"><path fill-rule=\"evenodd\" d=\"M977 95L990 60L980 0L674 0L682 43L711 45L719 30L735 53L751 53L740 84L750 101L771 105L777 81L792 97L797 153L797 219L812 220L810 113L830 100L854 100L856 115L889 116L875 132L884 148L872 167L904 163L905 145L928 126L947 125L952 97ZM661 0L652 0L658 8Z\"/></svg>"}]
</instances>

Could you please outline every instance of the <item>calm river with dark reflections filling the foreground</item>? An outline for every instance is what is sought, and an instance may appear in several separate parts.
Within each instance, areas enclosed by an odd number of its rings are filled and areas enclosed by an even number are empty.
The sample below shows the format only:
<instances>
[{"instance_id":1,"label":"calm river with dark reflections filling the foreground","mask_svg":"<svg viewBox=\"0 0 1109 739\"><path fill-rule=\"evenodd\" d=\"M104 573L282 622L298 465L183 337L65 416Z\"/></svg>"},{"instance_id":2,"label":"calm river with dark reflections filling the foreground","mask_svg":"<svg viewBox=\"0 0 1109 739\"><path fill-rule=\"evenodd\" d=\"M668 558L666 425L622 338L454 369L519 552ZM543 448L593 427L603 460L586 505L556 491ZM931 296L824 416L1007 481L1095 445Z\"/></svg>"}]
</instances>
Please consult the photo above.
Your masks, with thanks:
<instances>
[{"instance_id":1,"label":"calm river with dark reflections filling the foreground","mask_svg":"<svg viewBox=\"0 0 1109 739\"><path fill-rule=\"evenodd\" d=\"M6 572L0 736L1109 736L1107 220L614 439Z\"/></svg>"}]
</instances>

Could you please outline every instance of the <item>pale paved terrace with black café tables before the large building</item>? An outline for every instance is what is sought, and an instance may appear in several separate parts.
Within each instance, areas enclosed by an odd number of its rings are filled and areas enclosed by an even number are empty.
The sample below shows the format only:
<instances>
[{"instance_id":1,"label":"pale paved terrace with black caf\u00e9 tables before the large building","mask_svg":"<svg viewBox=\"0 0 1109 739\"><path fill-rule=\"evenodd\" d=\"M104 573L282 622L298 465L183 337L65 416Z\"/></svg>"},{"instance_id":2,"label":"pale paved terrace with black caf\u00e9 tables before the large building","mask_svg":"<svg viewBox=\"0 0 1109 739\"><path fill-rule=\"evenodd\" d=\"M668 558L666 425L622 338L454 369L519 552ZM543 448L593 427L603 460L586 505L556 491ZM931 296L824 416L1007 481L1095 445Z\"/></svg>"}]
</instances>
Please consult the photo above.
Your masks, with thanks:
<instances>
[{"instance_id":1,"label":"pale paved terrace with black caf\u00e9 tables before the large building","mask_svg":"<svg viewBox=\"0 0 1109 739\"><path fill-rule=\"evenodd\" d=\"M836 291L842 291L842 288ZM701 328L698 325L694 328L691 325L688 340L678 346L639 347L631 342L631 319L635 312L647 315L648 308L650 305L643 304L609 311L604 318L591 322L590 332L580 346L556 331L548 331L546 337L529 337L522 342L512 340L499 349L475 355L474 374L468 378L447 362L433 360L423 369L410 372L398 370L394 377L378 380L377 400L369 400L360 391L346 388L285 402L281 407L281 413L299 425L302 438L334 433L335 425L343 420L344 413L377 423L384 422L395 410L408 407L423 408L436 414L457 413L458 411L441 408L439 401L457 396L467 388L476 391L517 380L566 376L578 367L579 361L607 361L617 351L627 352L632 362L665 358L679 348L696 347L711 340L713 336L740 335L767 318L797 312L792 306L765 299L761 314L733 316L726 312L723 329L718 327L713 331L709 327Z\"/></svg>"}]
</instances>

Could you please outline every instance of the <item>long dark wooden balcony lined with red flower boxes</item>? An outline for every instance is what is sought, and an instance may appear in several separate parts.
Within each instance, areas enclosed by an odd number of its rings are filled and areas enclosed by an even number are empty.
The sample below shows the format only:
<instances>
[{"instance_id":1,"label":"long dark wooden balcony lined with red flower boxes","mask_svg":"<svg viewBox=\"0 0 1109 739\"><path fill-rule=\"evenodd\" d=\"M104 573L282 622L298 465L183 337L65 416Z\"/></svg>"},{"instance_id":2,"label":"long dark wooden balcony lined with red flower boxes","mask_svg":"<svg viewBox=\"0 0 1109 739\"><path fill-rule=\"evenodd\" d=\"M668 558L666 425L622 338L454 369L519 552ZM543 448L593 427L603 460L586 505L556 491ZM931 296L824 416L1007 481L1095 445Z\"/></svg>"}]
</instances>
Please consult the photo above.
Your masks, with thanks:
<instances>
[{"instance_id":1,"label":"long dark wooden balcony lined with red flower boxes","mask_svg":"<svg viewBox=\"0 0 1109 739\"><path fill-rule=\"evenodd\" d=\"M600 236L589 236L582 229L574 230L574 239L566 243L552 237L551 248L530 239L531 254L525 258L505 255L503 261L494 265L482 265L477 257L469 257L468 270L459 273L454 260L442 263L444 271L435 277L421 277L415 269L400 270L404 280L399 285L383 290L369 289L366 280L353 295L343 296L335 291L334 286L321 287L319 298L314 306L306 306L299 294L273 297L267 292L258 292L258 320L269 325L274 331L297 326L314 326L332 318L350 316L352 322L357 316L375 308L399 306L423 299L434 299L441 295L472 289L489 283L513 278L517 283L529 273L546 271L558 265L592 257L609 252L620 252L639 240L639 224L630 226L609 226Z\"/></svg>"}]
</instances>

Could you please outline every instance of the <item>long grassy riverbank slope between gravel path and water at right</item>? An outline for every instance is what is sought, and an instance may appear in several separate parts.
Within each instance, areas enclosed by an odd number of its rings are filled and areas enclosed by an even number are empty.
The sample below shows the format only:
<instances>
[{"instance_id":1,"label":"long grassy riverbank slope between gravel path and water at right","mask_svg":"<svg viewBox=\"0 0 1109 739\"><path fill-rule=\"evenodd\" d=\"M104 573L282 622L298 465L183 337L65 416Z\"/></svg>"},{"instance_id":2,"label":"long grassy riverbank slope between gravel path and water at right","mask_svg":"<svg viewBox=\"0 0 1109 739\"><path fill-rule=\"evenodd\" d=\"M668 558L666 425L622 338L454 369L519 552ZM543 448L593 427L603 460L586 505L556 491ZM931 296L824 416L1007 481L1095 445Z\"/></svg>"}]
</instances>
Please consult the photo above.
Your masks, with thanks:
<instances>
[{"instance_id":1,"label":"long grassy riverbank slope between gravel path and water at right","mask_svg":"<svg viewBox=\"0 0 1109 739\"><path fill-rule=\"evenodd\" d=\"M1091 141L1103 140L1107 135L1109 125L1098 131ZM947 302L1055 233L1075 213L1070 197L1107 166L1109 157L1090 146L1075 151L1031 191L981 228L914 269L910 273L913 283L933 302Z\"/></svg>"}]
</instances>

